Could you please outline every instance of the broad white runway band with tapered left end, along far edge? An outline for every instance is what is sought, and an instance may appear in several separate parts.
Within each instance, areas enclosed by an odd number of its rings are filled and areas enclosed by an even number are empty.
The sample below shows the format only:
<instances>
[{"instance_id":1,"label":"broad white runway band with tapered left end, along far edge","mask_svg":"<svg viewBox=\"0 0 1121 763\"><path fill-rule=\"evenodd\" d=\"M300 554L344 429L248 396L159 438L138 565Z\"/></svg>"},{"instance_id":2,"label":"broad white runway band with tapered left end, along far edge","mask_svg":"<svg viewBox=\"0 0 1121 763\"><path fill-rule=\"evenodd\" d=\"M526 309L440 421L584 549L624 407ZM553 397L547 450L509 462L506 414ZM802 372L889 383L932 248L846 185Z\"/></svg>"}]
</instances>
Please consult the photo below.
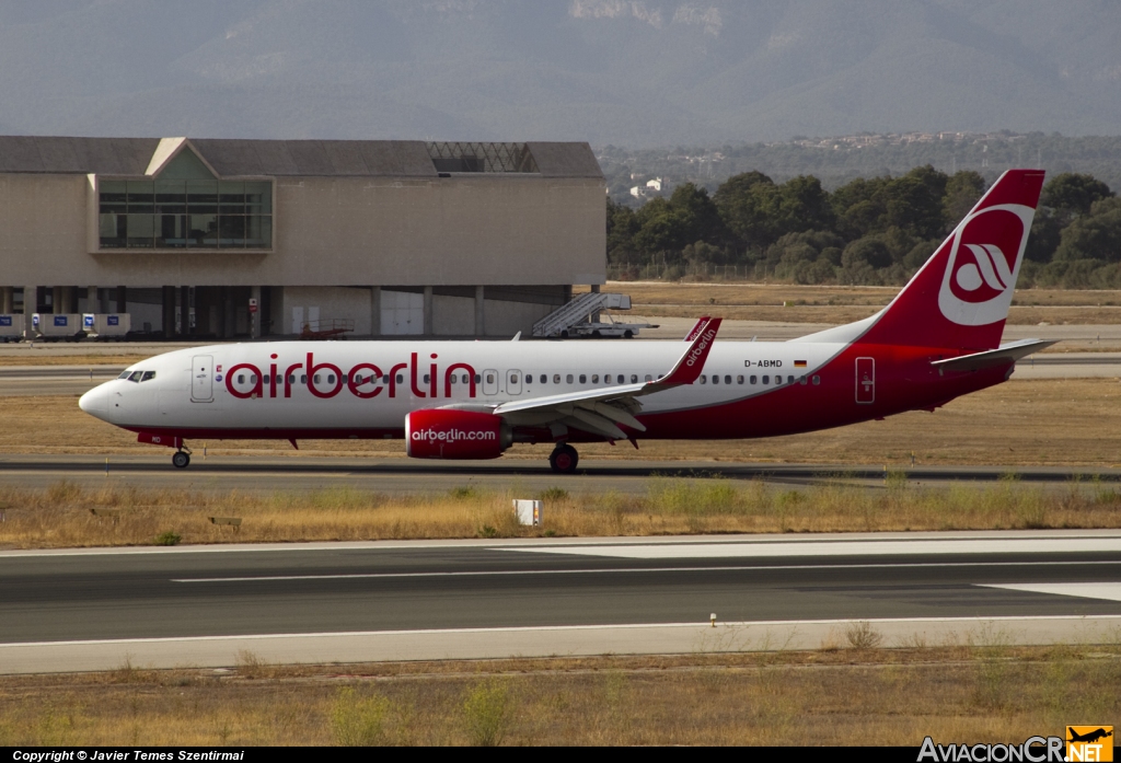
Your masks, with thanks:
<instances>
[{"instance_id":1,"label":"broad white runway band with tapered left end, along far edge","mask_svg":"<svg viewBox=\"0 0 1121 763\"><path fill-rule=\"evenodd\" d=\"M1121 538L540 546L503 547L502 550L525 553L574 553L619 559L759 559L772 557L918 556L924 553L1087 553L1121 552Z\"/></svg>"}]
</instances>

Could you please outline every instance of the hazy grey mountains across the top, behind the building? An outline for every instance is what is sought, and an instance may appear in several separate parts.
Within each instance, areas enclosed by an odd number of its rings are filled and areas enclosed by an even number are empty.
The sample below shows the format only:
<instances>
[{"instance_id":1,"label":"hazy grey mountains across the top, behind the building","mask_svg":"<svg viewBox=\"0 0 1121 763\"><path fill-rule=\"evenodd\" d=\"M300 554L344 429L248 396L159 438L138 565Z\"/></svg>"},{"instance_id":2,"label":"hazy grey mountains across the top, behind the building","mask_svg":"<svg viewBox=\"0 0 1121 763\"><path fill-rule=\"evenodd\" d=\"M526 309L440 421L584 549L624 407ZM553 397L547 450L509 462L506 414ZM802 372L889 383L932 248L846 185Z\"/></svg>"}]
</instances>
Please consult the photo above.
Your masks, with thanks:
<instances>
[{"instance_id":1,"label":"hazy grey mountains across the top, behind the building","mask_svg":"<svg viewBox=\"0 0 1121 763\"><path fill-rule=\"evenodd\" d=\"M1117 134L1113 0L26 0L0 132L586 140Z\"/></svg>"}]
</instances>

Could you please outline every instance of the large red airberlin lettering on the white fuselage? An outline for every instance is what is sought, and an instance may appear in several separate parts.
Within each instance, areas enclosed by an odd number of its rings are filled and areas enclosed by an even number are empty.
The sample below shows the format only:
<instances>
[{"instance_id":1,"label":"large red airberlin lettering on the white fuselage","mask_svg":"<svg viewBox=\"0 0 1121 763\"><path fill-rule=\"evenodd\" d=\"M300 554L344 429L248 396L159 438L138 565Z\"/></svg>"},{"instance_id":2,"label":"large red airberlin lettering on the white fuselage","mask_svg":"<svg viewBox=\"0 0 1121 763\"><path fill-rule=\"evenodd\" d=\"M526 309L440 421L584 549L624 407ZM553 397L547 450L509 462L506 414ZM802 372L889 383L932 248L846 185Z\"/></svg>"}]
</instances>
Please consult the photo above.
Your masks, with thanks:
<instances>
[{"instance_id":1,"label":"large red airberlin lettering on the white fuselage","mask_svg":"<svg viewBox=\"0 0 1121 763\"><path fill-rule=\"evenodd\" d=\"M262 371L252 363L238 363L225 371L225 389L234 398L248 400L250 398L290 398L294 387L307 387L307 390L316 398L333 398L340 394L345 388L355 398L377 398L382 392L387 397L398 396L398 379L404 383L400 374L407 371L409 379L408 392L417 398L438 398L441 392L441 376L443 376L443 397L451 398L452 390L456 383L460 372L463 372L464 387L467 388L467 396L475 397L475 370L467 363L452 363L439 373L439 365L436 363L437 355L433 353L428 367L421 370L417 361L417 353L411 353L408 363L395 363L386 371L374 363L359 363L349 371L343 371L334 363L316 363L315 353L307 353L307 359L302 363L276 363L277 355L271 355L272 363L268 371ZM219 366L221 371L221 366ZM249 384L245 389L244 379L248 375ZM239 376L242 381L239 381ZM239 389L240 388L240 389Z\"/></svg>"}]
</instances>

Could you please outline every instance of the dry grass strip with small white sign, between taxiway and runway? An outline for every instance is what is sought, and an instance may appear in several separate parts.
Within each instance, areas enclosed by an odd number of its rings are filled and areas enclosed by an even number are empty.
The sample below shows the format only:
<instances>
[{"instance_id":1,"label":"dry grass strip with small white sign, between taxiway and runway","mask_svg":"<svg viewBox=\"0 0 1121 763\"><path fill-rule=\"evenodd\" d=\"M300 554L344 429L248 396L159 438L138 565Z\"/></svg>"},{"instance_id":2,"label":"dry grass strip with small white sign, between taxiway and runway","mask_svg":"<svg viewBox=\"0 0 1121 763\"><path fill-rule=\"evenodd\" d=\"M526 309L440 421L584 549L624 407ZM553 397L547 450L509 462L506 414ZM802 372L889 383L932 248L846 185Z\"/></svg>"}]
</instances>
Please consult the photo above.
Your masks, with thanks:
<instances>
[{"instance_id":1,"label":"dry grass strip with small white sign, between taxiway and runway","mask_svg":"<svg viewBox=\"0 0 1121 763\"><path fill-rule=\"evenodd\" d=\"M537 528L517 523L510 509L520 494L516 488L464 485L388 496L352 487L271 494L94 490L68 482L46 490L0 487L7 506L0 548L1121 527L1121 490L1093 481L1060 490L1015 480L920 487L889 472L881 490L851 484L844 475L790 490L762 481L666 476L628 495L571 494L559 484L537 496L545 502L545 523ZM241 525L213 524L212 517L237 517Z\"/></svg>"}]
</instances>

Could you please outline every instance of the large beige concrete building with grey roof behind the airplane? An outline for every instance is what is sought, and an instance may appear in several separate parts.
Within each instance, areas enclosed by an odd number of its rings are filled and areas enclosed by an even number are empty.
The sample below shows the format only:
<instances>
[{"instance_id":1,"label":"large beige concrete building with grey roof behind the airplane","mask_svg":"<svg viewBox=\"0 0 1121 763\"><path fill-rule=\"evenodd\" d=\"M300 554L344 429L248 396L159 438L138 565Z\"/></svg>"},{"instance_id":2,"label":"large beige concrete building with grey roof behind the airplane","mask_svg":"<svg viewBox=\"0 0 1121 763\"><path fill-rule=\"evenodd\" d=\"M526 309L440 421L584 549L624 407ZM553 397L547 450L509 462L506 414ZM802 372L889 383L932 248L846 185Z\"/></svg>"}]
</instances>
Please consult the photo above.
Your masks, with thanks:
<instances>
[{"instance_id":1,"label":"large beige concrete building with grey roof behind the airplane","mask_svg":"<svg viewBox=\"0 0 1121 763\"><path fill-rule=\"evenodd\" d=\"M0 137L0 320L528 336L604 282L604 188L586 143Z\"/></svg>"}]
</instances>

